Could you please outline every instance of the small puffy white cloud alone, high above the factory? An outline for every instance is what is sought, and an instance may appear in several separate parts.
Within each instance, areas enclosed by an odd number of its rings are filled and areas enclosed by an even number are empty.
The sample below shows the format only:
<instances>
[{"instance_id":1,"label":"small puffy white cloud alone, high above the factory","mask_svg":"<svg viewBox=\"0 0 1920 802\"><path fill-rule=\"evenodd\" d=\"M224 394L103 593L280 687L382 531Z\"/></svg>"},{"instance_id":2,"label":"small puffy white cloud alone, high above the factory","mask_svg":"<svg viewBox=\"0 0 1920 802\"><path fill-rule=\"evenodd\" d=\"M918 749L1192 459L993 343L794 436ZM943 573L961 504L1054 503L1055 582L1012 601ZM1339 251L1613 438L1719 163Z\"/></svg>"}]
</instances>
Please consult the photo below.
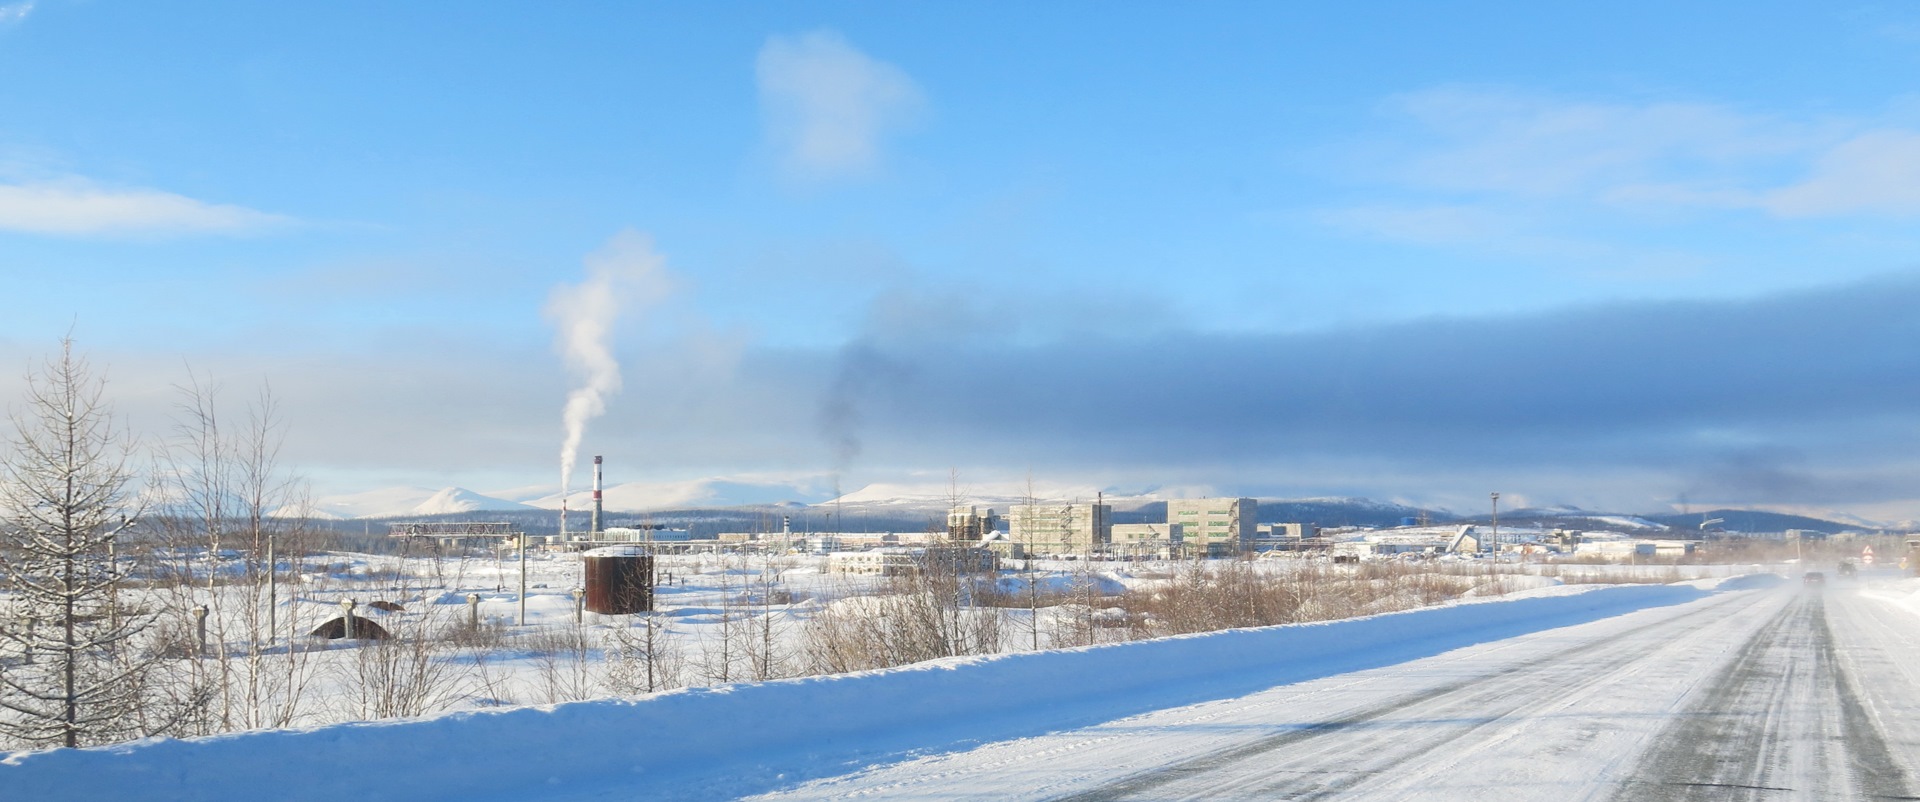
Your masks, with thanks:
<instances>
[{"instance_id":1,"label":"small puffy white cloud alone, high above the factory","mask_svg":"<svg viewBox=\"0 0 1920 802\"><path fill-rule=\"evenodd\" d=\"M872 173L881 138L924 104L906 73L831 31L768 38L755 73L768 140L781 165L803 178Z\"/></svg>"}]
</instances>

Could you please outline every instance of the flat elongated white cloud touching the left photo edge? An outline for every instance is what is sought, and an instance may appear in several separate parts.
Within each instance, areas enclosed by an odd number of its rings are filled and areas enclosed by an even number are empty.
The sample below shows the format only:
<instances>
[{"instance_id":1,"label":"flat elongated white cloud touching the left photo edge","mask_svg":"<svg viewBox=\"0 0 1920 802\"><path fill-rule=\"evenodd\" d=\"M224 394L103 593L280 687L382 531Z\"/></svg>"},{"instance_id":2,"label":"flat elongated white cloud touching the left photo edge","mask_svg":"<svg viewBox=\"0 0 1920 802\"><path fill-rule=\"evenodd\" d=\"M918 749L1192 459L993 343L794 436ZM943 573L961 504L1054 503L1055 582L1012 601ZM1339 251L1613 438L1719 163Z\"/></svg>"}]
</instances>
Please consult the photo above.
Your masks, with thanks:
<instances>
[{"instance_id":1,"label":"flat elongated white cloud touching the left photo edge","mask_svg":"<svg viewBox=\"0 0 1920 802\"><path fill-rule=\"evenodd\" d=\"M29 234L238 234L288 223L240 205L81 178L0 184L0 230Z\"/></svg>"}]
</instances>

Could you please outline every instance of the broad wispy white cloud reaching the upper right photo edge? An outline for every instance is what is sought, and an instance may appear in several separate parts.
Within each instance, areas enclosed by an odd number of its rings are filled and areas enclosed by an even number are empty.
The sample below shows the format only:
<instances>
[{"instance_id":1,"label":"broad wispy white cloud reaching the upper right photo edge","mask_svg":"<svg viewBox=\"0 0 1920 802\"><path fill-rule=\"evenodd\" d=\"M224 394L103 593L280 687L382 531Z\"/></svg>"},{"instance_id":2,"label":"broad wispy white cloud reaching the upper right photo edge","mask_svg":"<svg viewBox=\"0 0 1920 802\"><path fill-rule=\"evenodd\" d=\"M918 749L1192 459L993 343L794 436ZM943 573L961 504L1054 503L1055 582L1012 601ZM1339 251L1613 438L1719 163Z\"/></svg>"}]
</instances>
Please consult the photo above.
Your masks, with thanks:
<instances>
[{"instance_id":1,"label":"broad wispy white cloud reaching the upper right photo edge","mask_svg":"<svg viewBox=\"0 0 1920 802\"><path fill-rule=\"evenodd\" d=\"M1513 219L1576 211L1665 215L1755 211L1780 219L1920 215L1920 130L1882 119L1761 115L1701 102L1590 102L1505 90L1436 88L1394 98L1411 123L1354 159L1356 177L1415 198L1382 215L1336 209L1342 228L1455 244L1486 234L1486 213ZM1569 215L1561 215L1569 217ZM1517 221L1509 221L1517 223ZM1513 224L1494 236L1524 236Z\"/></svg>"}]
</instances>

